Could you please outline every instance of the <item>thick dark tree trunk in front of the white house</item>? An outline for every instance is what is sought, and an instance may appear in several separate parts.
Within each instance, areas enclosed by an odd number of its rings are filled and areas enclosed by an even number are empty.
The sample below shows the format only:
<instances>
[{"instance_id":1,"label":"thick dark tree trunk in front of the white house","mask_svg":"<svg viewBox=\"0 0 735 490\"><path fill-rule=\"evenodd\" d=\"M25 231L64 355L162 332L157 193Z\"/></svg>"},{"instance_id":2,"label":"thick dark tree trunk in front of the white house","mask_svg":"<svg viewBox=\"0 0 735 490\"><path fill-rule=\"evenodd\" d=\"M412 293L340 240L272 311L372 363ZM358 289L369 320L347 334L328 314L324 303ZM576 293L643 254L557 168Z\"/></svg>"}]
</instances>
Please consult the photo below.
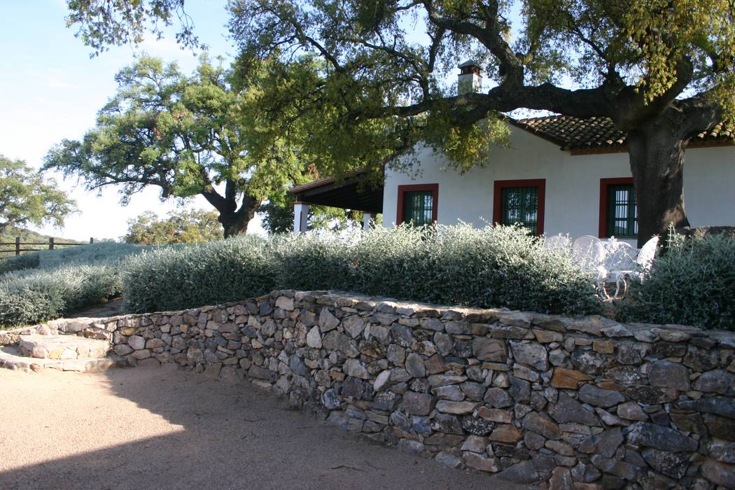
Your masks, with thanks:
<instances>
[{"instance_id":1,"label":"thick dark tree trunk in front of the white house","mask_svg":"<svg viewBox=\"0 0 735 490\"><path fill-rule=\"evenodd\" d=\"M684 147L680 129L666 118L628 131L628 153L638 206L638 246L666 237L671 223L689 227L684 211Z\"/></svg>"}]
</instances>

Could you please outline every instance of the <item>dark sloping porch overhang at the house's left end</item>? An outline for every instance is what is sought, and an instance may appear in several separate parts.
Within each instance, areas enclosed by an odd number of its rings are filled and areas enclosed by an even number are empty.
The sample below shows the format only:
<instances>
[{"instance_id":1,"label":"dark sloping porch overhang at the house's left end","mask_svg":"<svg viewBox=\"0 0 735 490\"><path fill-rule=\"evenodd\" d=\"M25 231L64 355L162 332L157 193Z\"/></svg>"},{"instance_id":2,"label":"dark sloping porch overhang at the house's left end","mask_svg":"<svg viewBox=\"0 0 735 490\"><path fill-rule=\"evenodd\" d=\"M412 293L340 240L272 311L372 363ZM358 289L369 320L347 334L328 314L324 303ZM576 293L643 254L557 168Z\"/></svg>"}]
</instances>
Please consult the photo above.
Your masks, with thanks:
<instances>
[{"instance_id":1,"label":"dark sloping porch overhang at the house's left end","mask_svg":"<svg viewBox=\"0 0 735 490\"><path fill-rule=\"evenodd\" d=\"M334 177L318 179L291 187L289 192L295 195L298 202L376 215L383 212L383 185L371 183L369 177L367 169L359 168L348 173L341 181Z\"/></svg>"}]
</instances>

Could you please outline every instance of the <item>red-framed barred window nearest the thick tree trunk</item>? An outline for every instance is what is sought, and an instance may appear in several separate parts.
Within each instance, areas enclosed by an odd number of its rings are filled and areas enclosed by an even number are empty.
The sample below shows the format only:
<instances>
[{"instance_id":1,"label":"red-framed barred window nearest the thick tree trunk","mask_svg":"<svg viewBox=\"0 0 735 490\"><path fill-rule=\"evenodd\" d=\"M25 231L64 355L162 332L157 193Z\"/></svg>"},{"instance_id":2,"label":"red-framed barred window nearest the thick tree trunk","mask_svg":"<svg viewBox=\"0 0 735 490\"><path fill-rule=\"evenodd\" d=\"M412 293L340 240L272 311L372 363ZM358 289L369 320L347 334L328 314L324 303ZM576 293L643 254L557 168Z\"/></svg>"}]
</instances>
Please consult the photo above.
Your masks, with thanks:
<instances>
[{"instance_id":1,"label":"red-framed barred window nearest the thick tree trunk","mask_svg":"<svg viewBox=\"0 0 735 490\"><path fill-rule=\"evenodd\" d=\"M600 179L600 238L638 237L633 179Z\"/></svg>"}]
</instances>

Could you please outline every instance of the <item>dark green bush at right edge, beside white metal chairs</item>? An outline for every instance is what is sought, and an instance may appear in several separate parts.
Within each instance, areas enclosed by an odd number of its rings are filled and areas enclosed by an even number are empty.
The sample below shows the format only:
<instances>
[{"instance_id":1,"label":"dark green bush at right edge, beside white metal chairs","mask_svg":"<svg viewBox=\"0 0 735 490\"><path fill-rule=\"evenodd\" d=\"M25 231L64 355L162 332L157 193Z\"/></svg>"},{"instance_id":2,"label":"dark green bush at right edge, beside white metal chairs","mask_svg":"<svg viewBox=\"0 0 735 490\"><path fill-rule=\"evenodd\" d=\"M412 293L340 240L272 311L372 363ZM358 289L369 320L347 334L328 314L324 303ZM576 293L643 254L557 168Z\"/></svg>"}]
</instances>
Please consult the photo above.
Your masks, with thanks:
<instances>
[{"instance_id":1,"label":"dark green bush at right edge, beside white metal chairs","mask_svg":"<svg viewBox=\"0 0 735 490\"><path fill-rule=\"evenodd\" d=\"M735 330L735 240L670 237L665 253L634 284L628 318Z\"/></svg>"}]
</instances>

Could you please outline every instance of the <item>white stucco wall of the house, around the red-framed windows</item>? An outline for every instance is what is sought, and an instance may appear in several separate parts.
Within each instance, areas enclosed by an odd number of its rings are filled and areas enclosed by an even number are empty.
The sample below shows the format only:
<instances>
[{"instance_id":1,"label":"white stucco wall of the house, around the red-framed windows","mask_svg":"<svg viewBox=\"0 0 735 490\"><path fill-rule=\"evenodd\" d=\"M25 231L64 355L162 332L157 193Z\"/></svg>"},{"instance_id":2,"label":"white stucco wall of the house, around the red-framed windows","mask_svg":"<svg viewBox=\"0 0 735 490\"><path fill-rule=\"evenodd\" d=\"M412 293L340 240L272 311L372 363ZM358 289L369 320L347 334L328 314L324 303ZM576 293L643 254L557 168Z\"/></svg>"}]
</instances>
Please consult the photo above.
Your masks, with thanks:
<instances>
[{"instance_id":1,"label":"white stucco wall of the house, around the red-framed windows","mask_svg":"<svg viewBox=\"0 0 735 490\"><path fill-rule=\"evenodd\" d=\"M496 180L546 179L544 233L598 236L600 179L630 177L628 154L573 156L527 131L511 131L509 148L496 148L487 165L463 175L426 149L420 151L420 175L386 169L384 226L395 224L399 185L439 184L439 223L462 220L484 226L492 222ZM689 149L684 169L684 200L692 226L735 225L735 148Z\"/></svg>"}]
</instances>

